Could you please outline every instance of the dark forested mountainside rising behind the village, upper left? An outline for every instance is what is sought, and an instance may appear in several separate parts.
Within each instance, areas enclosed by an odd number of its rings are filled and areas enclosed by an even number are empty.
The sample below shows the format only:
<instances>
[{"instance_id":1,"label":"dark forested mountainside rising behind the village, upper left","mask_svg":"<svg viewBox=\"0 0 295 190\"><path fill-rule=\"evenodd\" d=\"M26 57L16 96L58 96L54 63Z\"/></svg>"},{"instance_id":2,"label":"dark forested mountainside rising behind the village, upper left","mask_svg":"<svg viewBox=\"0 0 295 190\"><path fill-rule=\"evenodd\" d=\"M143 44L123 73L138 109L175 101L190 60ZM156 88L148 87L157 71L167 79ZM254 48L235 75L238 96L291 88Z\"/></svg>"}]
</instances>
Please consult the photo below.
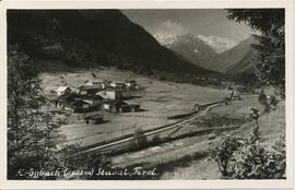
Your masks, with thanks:
<instances>
[{"instance_id":1,"label":"dark forested mountainside rising behind the village, upper left","mask_svg":"<svg viewBox=\"0 0 295 190\"><path fill-rule=\"evenodd\" d=\"M118 10L10 10L8 41L19 44L32 58L70 66L116 66L140 73L212 73L161 46Z\"/></svg>"}]
</instances>

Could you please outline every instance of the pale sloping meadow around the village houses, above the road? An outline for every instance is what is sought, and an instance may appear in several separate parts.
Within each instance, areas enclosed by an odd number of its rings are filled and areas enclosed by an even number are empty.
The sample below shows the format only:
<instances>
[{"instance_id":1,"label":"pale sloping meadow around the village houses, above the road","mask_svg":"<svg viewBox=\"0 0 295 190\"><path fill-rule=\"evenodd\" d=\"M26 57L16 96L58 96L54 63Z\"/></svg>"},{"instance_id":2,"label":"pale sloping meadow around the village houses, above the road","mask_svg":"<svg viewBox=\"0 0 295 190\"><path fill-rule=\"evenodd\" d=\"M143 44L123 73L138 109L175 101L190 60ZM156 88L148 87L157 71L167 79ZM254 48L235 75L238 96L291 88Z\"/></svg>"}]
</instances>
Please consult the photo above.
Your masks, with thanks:
<instances>
[{"instance_id":1,"label":"pale sloping meadow around the village houses, above the road","mask_svg":"<svg viewBox=\"0 0 295 190\"><path fill-rule=\"evenodd\" d=\"M60 128L70 143L91 145L106 139L132 133L137 129L157 128L174 122L167 120L168 116L190 112L194 103L202 105L216 102L224 99L229 94L225 90L156 81L114 68L96 69L95 74L97 80L135 80L143 90L135 92L133 95L137 98L130 102L140 104L144 111L118 115L105 114L106 122L101 124L84 124L82 121L76 121L79 116L72 116L69 123ZM40 74L45 94L49 95L52 90L62 85L61 76L64 78L70 87L79 87L84 81L93 80L91 71L83 68L72 69L62 64L57 68L48 68Z\"/></svg>"}]
</instances>

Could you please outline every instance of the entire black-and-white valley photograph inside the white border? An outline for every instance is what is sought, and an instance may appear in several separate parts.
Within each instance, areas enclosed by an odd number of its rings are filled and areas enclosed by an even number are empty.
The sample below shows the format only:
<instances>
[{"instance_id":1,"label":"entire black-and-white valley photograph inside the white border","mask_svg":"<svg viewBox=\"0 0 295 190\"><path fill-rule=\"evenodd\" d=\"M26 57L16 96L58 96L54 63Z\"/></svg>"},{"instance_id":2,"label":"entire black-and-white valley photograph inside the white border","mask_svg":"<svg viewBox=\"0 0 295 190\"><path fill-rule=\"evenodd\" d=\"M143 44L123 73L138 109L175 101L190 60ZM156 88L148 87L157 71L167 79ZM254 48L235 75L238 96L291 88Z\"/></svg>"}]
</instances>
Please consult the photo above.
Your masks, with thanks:
<instances>
[{"instance_id":1,"label":"entire black-and-white valley photograph inside the white border","mask_svg":"<svg viewBox=\"0 0 295 190\"><path fill-rule=\"evenodd\" d=\"M8 9L7 180L286 180L285 14Z\"/></svg>"}]
</instances>

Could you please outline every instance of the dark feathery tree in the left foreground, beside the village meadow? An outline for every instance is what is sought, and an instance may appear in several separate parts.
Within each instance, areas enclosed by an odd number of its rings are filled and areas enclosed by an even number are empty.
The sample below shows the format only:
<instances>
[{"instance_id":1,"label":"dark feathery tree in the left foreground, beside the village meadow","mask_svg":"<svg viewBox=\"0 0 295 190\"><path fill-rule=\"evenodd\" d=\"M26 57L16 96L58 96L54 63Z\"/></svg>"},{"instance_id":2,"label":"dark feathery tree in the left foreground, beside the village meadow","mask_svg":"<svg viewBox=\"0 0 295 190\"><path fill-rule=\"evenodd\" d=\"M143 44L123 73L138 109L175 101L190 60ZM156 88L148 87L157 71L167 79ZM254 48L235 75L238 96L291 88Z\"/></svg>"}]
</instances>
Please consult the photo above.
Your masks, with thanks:
<instances>
[{"instance_id":1,"label":"dark feathery tree in the left foreground, beside the village meadow","mask_svg":"<svg viewBox=\"0 0 295 190\"><path fill-rule=\"evenodd\" d=\"M36 66L17 46L8 51L8 178L25 179L23 170L54 170L59 167L61 136L50 115L42 109ZM32 178L32 177L30 177ZM33 177L34 178L34 177ZM36 179L45 179L36 177Z\"/></svg>"}]
</instances>

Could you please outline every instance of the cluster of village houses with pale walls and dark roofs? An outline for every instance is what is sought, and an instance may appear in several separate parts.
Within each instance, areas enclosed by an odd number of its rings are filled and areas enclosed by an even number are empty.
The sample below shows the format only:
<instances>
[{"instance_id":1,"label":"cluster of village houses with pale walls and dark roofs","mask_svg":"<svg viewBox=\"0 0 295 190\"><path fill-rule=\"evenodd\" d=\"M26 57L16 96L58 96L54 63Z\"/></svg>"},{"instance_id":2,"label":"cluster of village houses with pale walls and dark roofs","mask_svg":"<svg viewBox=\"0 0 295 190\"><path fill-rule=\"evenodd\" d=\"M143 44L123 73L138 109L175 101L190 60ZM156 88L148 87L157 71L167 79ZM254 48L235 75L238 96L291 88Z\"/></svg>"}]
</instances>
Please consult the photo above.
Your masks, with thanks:
<instances>
[{"instance_id":1,"label":"cluster of village houses with pale walls and dark roofs","mask_svg":"<svg viewBox=\"0 0 295 190\"><path fill-rule=\"evenodd\" d=\"M99 122L103 120L103 111L114 114L140 111L140 105L125 102L131 98L131 93L135 90L139 90L139 85L134 80L85 81L78 88L59 86L55 91L57 96L51 99L51 104L56 108L85 114L84 119L87 123L91 120Z\"/></svg>"}]
</instances>

